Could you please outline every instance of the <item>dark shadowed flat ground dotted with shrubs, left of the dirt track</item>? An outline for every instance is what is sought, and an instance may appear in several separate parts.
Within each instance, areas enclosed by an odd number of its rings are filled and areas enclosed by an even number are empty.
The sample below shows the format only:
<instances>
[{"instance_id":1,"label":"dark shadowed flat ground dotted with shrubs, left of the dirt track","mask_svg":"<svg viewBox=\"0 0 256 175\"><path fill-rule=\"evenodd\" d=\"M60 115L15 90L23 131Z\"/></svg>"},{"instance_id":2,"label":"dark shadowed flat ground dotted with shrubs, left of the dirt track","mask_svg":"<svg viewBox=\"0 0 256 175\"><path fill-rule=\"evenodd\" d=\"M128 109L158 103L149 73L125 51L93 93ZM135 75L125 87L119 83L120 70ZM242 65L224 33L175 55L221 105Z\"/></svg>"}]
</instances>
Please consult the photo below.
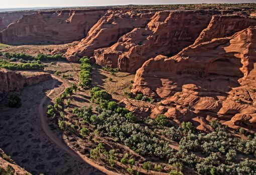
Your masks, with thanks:
<instances>
[{"instance_id":1,"label":"dark shadowed flat ground dotted with shrubs, left of the dirt track","mask_svg":"<svg viewBox=\"0 0 256 175\"><path fill-rule=\"evenodd\" d=\"M40 105L44 106L42 112L47 118L46 106L51 99L45 91L55 87L53 81L46 80L25 87L20 96L20 108L0 108L0 147L32 174L104 174L84 162L68 145L65 149L69 152L56 144L52 139L59 140L58 143L62 143L62 147L65 142L61 131L54 124L49 126L46 122L44 129L56 138L50 138L49 133L44 131L39 113Z\"/></svg>"}]
</instances>

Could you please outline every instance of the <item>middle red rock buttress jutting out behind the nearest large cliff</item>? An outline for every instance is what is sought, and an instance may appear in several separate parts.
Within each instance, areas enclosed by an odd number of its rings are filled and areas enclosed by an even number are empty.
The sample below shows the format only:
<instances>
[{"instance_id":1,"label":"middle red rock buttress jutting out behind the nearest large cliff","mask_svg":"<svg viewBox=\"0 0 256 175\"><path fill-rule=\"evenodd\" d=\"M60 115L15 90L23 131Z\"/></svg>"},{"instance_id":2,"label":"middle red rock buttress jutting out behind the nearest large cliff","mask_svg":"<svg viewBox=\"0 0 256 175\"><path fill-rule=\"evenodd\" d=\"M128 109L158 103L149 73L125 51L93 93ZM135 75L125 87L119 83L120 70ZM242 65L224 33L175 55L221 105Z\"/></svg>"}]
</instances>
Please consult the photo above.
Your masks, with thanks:
<instances>
[{"instance_id":1,"label":"middle red rock buttress jutting out behind the nearest large cliff","mask_svg":"<svg viewBox=\"0 0 256 175\"><path fill-rule=\"evenodd\" d=\"M135 72L158 54L172 55L192 44L218 11L158 11L144 28L135 28L111 47L95 50L100 65Z\"/></svg>"}]
</instances>

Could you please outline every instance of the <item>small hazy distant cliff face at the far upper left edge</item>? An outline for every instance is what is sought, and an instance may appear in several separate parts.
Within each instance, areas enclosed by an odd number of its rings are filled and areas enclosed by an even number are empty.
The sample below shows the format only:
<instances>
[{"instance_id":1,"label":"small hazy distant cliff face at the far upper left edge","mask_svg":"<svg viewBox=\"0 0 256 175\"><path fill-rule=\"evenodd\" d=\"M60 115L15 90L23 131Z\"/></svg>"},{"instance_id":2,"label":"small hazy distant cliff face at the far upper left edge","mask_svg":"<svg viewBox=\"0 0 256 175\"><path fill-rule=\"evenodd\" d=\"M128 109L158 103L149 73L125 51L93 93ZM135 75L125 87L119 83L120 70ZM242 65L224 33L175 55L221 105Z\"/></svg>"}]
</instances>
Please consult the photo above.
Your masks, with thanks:
<instances>
[{"instance_id":1,"label":"small hazy distant cliff face at the far upper left edge","mask_svg":"<svg viewBox=\"0 0 256 175\"><path fill-rule=\"evenodd\" d=\"M20 19L26 14L32 14L36 11L17 11L17 12L2 12L0 13L0 31L5 29L9 24Z\"/></svg>"}]
</instances>

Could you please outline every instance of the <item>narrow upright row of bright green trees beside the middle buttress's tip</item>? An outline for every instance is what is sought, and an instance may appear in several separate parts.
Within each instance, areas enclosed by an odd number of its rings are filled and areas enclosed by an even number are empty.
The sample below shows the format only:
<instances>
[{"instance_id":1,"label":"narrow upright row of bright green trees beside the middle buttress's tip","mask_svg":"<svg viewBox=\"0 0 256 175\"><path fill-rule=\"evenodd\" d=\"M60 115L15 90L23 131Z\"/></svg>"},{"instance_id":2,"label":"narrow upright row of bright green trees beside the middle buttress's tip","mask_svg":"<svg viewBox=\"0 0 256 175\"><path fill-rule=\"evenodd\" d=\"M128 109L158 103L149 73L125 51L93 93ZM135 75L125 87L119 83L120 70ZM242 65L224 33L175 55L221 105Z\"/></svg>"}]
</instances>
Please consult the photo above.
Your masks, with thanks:
<instances>
[{"instance_id":1,"label":"narrow upright row of bright green trees beside the middle buttress's tip","mask_svg":"<svg viewBox=\"0 0 256 175\"><path fill-rule=\"evenodd\" d=\"M92 66L87 56L80 59L80 85L84 88L88 88L91 85L91 70Z\"/></svg>"}]
</instances>

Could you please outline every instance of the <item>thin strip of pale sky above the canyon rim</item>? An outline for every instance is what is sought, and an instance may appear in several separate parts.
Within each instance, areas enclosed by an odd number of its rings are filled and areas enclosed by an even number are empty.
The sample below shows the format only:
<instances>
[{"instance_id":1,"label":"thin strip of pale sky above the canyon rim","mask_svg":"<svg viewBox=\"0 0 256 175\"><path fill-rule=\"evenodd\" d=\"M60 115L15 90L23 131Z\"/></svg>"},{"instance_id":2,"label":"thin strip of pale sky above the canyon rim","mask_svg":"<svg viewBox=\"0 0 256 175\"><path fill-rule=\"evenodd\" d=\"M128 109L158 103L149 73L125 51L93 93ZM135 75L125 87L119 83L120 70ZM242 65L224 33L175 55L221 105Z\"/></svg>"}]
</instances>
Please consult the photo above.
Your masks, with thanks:
<instances>
[{"instance_id":1,"label":"thin strip of pale sky above the canyon rim","mask_svg":"<svg viewBox=\"0 0 256 175\"><path fill-rule=\"evenodd\" d=\"M255 3L256 0L0 0L0 8L245 2Z\"/></svg>"}]
</instances>

